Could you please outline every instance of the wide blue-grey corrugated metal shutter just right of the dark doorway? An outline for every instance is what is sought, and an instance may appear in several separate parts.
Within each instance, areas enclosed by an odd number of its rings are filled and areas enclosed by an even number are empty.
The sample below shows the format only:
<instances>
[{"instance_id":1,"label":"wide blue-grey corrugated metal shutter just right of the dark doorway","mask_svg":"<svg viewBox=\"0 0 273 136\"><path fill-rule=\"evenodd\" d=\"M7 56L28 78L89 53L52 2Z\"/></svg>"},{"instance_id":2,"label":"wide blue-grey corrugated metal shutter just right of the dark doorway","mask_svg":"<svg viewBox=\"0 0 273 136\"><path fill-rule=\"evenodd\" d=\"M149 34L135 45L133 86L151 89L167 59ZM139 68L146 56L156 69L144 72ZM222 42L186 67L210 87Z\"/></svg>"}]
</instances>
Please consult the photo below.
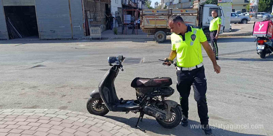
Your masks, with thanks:
<instances>
[{"instance_id":1,"label":"wide blue-grey corrugated metal shutter just right of the dark doorway","mask_svg":"<svg viewBox=\"0 0 273 136\"><path fill-rule=\"evenodd\" d=\"M72 38L68 0L36 0L35 4L40 39Z\"/></svg>"}]
</instances>

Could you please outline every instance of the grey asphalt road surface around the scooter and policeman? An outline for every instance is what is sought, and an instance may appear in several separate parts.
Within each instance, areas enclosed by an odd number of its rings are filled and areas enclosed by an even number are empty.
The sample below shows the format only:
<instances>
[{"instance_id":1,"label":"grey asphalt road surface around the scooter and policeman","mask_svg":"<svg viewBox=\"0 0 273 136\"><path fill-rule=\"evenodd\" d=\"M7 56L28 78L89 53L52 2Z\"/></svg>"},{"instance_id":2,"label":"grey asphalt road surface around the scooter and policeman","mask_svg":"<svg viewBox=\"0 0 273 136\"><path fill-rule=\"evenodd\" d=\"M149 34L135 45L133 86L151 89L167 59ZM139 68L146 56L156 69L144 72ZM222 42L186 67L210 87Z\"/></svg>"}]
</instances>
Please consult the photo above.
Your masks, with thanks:
<instances>
[{"instance_id":1,"label":"grey asphalt road surface around the scooter and policeman","mask_svg":"<svg viewBox=\"0 0 273 136\"><path fill-rule=\"evenodd\" d=\"M213 129L214 135L272 136L273 55L261 59L250 36L221 38L218 46L220 74L213 71L212 62L203 49L209 124L217 127ZM0 108L57 108L87 113L89 93L98 87L110 68L107 57L119 54L127 57L124 71L120 71L115 81L119 98L135 99L135 90L130 87L135 77L168 76L173 80L171 87L176 89L175 67L162 66L158 61L168 57L170 49L170 40L163 44L149 39L1 40ZM179 102L179 93L176 91L167 99ZM193 91L189 107L189 124L198 125ZM109 112L105 117L134 127L138 116ZM190 125L163 128L148 116L144 116L139 125L151 136L204 135L202 130L191 129ZM262 128L255 129L256 125Z\"/></svg>"}]
</instances>

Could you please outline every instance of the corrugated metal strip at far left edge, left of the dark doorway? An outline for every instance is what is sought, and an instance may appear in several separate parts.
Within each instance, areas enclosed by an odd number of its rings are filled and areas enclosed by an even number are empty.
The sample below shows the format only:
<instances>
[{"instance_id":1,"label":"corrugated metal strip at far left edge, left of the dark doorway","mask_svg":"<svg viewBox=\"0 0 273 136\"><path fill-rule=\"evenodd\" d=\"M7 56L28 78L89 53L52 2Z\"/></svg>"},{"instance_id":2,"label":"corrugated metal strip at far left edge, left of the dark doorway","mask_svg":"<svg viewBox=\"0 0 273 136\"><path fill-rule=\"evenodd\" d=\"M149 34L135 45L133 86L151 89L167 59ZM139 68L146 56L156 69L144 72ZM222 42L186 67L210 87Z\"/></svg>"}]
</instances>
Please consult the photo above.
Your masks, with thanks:
<instances>
[{"instance_id":1,"label":"corrugated metal strip at far left edge, left of the dark doorway","mask_svg":"<svg viewBox=\"0 0 273 136\"><path fill-rule=\"evenodd\" d=\"M0 0L0 39L8 39L2 0Z\"/></svg>"}]
</instances>

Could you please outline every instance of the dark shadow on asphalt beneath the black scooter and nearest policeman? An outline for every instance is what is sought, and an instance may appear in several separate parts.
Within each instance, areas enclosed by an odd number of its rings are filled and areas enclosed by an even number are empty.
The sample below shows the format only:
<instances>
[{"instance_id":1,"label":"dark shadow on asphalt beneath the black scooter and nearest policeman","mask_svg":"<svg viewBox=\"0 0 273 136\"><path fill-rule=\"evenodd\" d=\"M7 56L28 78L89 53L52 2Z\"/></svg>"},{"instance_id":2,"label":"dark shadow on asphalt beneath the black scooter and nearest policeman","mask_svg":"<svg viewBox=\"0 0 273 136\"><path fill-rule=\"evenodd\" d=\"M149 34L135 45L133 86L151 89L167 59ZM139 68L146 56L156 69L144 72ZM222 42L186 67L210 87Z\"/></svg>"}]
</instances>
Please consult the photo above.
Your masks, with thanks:
<instances>
[{"instance_id":1,"label":"dark shadow on asphalt beneath the black scooter and nearest policeman","mask_svg":"<svg viewBox=\"0 0 273 136\"><path fill-rule=\"evenodd\" d=\"M113 120L125 123L127 125L130 125L132 128L135 128L135 125L137 123L137 117L131 117L130 119L123 118L123 117L114 117L114 116L105 116L108 118L111 118ZM138 124L141 129L156 133L156 134L162 134L162 135L174 135L174 136L200 136L204 135L204 131L201 130L200 128L190 128L190 125L199 125L200 122L197 121L189 121L189 125L187 127L183 127L180 124L177 127L174 127L172 129L167 129L162 127L157 123L155 119L150 119L153 117L149 117L147 115L144 115L143 121ZM216 124L217 125L217 124ZM238 133L238 132L233 132L229 130L224 130L220 128L213 128L213 134L214 135L221 135L221 136L263 136L263 135L256 135L256 134L243 134L243 133Z\"/></svg>"}]
</instances>

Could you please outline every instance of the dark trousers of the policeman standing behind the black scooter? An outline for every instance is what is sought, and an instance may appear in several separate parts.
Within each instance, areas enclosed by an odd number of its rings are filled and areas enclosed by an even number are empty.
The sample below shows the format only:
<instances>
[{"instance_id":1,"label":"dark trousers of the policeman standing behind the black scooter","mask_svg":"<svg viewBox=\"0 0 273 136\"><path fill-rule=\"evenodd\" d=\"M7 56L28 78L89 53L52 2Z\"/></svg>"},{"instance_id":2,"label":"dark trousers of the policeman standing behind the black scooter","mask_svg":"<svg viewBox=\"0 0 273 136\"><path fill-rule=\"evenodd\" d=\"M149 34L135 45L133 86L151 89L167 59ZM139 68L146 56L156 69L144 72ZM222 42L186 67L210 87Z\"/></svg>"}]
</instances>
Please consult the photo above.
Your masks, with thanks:
<instances>
[{"instance_id":1,"label":"dark trousers of the policeman standing behind the black scooter","mask_svg":"<svg viewBox=\"0 0 273 136\"><path fill-rule=\"evenodd\" d=\"M180 93L182 114L188 117L190 87L193 86L194 99L197 102L201 125L208 124L208 106L206 99L207 79L204 66L193 70L177 70L177 91Z\"/></svg>"}]
</instances>

